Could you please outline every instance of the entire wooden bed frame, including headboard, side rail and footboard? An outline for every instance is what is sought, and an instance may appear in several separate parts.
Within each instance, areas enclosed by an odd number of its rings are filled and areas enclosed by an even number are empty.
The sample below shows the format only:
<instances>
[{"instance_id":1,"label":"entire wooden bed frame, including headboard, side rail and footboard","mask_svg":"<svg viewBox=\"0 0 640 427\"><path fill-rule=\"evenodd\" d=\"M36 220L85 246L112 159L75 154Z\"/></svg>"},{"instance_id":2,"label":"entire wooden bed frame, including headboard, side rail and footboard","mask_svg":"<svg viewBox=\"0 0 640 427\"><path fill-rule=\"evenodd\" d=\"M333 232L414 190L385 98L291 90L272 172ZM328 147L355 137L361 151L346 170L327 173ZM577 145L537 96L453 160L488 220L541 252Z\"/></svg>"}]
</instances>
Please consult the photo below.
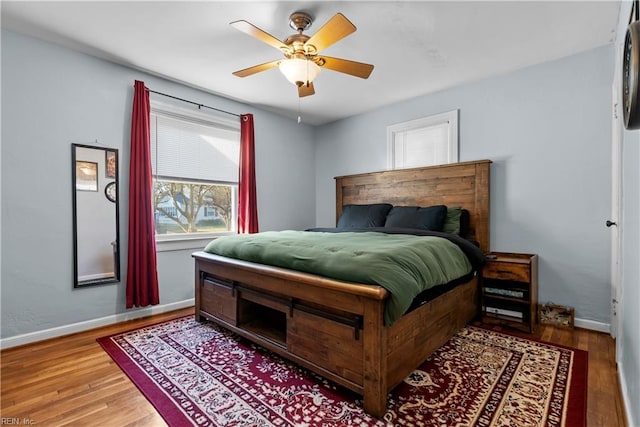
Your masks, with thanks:
<instances>
[{"instance_id":1,"label":"entire wooden bed frame, including headboard, side rail and footboard","mask_svg":"<svg viewBox=\"0 0 640 427\"><path fill-rule=\"evenodd\" d=\"M469 238L488 252L490 164L337 177L336 217L347 204L461 206L470 212ZM479 314L477 276L385 326L382 287L205 252L193 256L197 320L216 322L363 395L365 411L377 417L388 392Z\"/></svg>"}]
</instances>

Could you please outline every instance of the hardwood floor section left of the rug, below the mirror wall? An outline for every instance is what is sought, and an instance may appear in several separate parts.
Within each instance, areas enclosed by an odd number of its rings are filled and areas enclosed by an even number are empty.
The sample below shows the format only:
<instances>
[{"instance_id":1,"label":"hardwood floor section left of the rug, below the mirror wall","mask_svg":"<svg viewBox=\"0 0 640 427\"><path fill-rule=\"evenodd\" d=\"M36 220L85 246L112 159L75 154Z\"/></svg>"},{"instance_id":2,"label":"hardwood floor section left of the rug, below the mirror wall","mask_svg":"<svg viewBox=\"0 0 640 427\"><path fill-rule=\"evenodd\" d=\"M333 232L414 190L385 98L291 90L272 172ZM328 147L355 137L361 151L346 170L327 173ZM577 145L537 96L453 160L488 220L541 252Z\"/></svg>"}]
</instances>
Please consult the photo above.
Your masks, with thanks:
<instances>
[{"instance_id":1,"label":"hardwood floor section left of the rug, below the mirror wall","mask_svg":"<svg viewBox=\"0 0 640 427\"><path fill-rule=\"evenodd\" d=\"M166 426L96 339L188 314L193 307L3 350L2 417L38 426Z\"/></svg>"}]
</instances>

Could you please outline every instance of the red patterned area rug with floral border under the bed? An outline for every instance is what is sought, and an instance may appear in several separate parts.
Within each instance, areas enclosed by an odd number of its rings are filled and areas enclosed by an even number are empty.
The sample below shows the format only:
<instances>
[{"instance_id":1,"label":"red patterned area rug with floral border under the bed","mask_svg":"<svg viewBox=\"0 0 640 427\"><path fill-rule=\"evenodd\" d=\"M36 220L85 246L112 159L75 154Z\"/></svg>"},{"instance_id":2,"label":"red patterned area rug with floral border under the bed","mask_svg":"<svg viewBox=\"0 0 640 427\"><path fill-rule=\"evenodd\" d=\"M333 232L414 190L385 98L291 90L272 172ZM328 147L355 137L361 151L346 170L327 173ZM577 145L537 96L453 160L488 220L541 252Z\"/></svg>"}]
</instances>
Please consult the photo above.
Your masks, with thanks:
<instances>
[{"instance_id":1,"label":"red patterned area rug with floral border under the bed","mask_svg":"<svg viewBox=\"0 0 640 427\"><path fill-rule=\"evenodd\" d=\"M170 426L584 426L587 353L466 327L390 394L360 396L184 317L98 342Z\"/></svg>"}]
</instances>

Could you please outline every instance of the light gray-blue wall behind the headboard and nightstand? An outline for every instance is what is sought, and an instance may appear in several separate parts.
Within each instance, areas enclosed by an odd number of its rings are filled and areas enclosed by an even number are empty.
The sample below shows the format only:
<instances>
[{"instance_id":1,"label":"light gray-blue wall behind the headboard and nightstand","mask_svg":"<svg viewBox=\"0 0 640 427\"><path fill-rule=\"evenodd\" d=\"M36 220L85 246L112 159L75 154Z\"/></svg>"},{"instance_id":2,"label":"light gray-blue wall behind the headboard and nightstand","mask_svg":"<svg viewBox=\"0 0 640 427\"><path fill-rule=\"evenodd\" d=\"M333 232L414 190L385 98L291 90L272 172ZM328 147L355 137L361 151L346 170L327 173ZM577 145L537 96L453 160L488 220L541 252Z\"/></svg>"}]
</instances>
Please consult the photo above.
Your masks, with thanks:
<instances>
[{"instance_id":1,"label":"light gray-blue wall behind the headboard and nightstand","mask_svg":"<svg viewBox=\"0 0 640 427\"><path fill-rule=\"evenodd\" d=\"M460 160L494 162L491 248L537 253L540 301L608 323L613 66L602 47L317 128L318 226L334 176L386 168L387 126L459 109Z\"/></svg>"}]
</instances>

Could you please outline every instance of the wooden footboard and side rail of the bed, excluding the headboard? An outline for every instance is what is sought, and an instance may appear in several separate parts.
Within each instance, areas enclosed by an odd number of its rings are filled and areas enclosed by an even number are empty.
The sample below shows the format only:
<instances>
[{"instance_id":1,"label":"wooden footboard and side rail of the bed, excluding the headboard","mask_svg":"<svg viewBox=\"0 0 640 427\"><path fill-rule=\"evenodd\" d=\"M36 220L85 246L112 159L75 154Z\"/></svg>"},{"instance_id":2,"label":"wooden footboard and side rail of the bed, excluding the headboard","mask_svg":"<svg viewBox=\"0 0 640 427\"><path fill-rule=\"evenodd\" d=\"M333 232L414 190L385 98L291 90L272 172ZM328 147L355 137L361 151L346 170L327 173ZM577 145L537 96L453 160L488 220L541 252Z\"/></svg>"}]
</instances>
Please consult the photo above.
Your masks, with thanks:
<instances>
[{"instance_id":1,"label":"wooden footboard and side rail of the bed, excluding the headboard","mask_svg":"<svg viewBox=\"0 0 640 427\"><path fill-rule=\"evenodd\" d=\"M388 292L379 286L193 256L197 320L216 322L361 394L365 411L377 417L386 411L387 393L466 323L473 309L461 313L461 298L475 300L473 280L385 327Z\"/></svg>"}]
</instances>

